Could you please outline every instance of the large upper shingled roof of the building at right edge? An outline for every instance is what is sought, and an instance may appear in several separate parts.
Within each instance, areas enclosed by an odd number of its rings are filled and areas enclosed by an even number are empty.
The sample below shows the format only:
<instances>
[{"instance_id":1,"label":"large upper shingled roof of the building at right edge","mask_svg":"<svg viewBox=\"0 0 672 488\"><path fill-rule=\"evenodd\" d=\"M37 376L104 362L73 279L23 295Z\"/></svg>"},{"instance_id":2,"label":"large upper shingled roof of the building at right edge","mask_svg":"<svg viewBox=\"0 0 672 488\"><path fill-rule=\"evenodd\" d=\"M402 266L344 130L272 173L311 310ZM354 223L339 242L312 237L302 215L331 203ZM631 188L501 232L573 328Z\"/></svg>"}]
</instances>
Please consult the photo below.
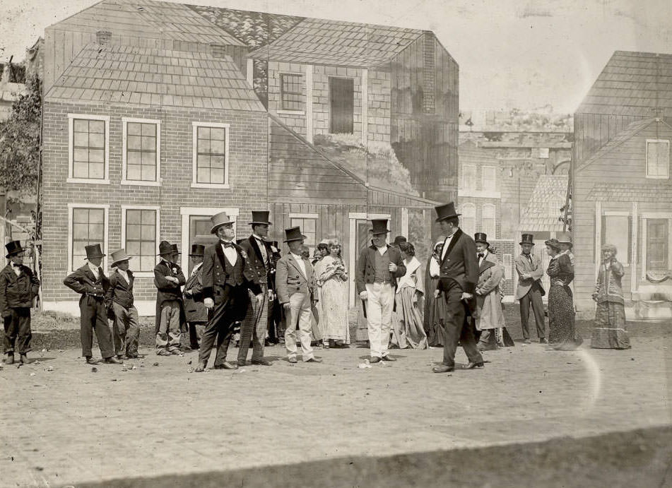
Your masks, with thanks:
<instances>
[{"instance_id":1,"label":"large upper shingled roof of the building at right edge","mask_svg":"<svg viewBox=\"0 0 672 488\"><path fill-rule=\"evenodd\" d=\"M577 114L652 117L672 111L672 54L616 51L577 109Z\"/></svg>"}]
</instances>

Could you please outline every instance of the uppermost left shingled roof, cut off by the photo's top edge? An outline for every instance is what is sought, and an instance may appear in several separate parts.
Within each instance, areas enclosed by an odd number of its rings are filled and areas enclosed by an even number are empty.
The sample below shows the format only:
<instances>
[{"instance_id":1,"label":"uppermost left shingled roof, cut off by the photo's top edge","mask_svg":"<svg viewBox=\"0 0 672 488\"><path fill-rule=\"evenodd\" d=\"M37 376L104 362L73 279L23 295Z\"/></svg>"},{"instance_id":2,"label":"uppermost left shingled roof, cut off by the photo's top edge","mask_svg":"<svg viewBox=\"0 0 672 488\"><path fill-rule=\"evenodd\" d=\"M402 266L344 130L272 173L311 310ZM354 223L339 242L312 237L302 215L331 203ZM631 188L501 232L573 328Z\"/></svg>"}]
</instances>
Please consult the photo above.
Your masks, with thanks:
<instances>
[{"instance_id":1,"label":"uppermost left shingled roof, cut off by the photo's top edge","mask_svg":"<svg viewBox=\"0 0 672 488\"><path fill-rule=\"evenodd\" d=\"M188 6L165 1L103 0L57 25L61 29L81 30L84 26L91 32L105 29L117 35L153 39L244 45Z\"/></svg>"}]
</instances>

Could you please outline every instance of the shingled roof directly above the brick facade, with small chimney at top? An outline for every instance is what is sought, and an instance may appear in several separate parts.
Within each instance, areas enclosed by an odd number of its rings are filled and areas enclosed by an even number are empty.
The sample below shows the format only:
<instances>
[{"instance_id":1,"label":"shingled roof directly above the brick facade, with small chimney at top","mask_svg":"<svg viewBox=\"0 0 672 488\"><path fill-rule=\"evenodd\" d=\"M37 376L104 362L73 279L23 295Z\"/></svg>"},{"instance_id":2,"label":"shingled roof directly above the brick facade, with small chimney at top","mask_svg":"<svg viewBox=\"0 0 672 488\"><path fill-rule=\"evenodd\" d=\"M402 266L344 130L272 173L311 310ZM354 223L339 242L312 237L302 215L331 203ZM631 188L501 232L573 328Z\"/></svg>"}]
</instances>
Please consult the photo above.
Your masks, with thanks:
<instances>
[{"instance_id":1,"label":"shingled roof directly above the brick facade, with small chimney at top","mask_svg":"<svg viewBox=\"0 0 672 488\"><path fill-rule=\"evenodd\" d=\"M87 44L45 98L266 112L229 56L114 44Z\"/></svg>"}]
</instances>

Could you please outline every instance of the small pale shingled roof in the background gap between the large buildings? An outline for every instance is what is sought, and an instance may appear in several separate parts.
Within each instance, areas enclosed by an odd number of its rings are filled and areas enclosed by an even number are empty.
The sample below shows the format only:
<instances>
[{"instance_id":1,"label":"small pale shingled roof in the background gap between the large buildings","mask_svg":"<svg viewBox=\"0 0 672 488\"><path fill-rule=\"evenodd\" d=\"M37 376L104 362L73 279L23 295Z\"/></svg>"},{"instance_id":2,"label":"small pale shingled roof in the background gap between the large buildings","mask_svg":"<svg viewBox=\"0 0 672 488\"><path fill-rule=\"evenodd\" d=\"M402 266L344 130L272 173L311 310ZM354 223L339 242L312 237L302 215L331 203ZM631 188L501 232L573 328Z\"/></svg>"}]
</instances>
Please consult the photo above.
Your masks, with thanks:
<instances>
[{"instance_id":1,"label":"small pale shingled roof in the background gap between the large buildings","mask_svg":"<svg viewBox=\"0 0 672 488\"><path fill-rule=\"evenodd\" d=\"M558 220L567 198L567 174L542 174L520 218L523 231L562 231Z\"/></svg>"}]
</instances>

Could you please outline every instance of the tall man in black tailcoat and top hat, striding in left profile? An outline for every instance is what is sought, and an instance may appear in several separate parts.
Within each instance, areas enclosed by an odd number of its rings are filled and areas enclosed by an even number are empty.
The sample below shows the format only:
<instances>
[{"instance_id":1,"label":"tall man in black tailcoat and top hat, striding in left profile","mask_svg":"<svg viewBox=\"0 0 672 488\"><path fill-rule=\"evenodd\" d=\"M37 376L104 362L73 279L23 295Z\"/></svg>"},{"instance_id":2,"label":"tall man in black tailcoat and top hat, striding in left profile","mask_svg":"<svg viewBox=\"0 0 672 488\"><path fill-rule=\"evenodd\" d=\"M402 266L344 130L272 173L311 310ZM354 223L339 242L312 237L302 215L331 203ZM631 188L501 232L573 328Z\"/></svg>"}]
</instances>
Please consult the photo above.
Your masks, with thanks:
<instances>
[{"instance_id":1,"label":"tall man in black tailcoat and top hat, striding in left profile","mask_svg":"<svg viewBox=\"0 0 672 488\"><path fill-rule=\"evenodd\" d=\"M446 373L455 369L455 351L459 342L469 360L466 369L482 368L483 356L476 347L473 328L466 319L476 308L474 293L478 282L476 244L459 228L459 213L453 202L435 208L437 222L446 240L440 256L439 284L435 295L446 299L446 341L443 361L433 369Z\"/></svg>"}]
</instances>

